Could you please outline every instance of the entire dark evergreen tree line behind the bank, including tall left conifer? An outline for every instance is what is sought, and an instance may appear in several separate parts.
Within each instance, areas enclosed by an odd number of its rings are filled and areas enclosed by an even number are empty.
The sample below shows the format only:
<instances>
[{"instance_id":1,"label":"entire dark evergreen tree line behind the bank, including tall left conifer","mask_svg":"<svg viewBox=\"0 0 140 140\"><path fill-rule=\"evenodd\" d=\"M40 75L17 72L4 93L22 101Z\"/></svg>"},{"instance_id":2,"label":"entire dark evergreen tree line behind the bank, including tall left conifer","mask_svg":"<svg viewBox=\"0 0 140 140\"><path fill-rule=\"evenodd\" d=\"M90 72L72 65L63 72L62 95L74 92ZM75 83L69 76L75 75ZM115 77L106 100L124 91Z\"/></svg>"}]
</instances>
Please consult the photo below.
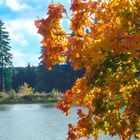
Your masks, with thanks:
<instances>
[{"instance_id":1,"label":"entire dark evergreen tree line behind the bank, including tall left conifer","mask_svg":"<svg viewBox=\"0 0 140 140\"><path fill-rule=\"evenodd\" d=\"M41 47L38 66L13 67L9 33L0 19L0 92L8 92L27 83L35 92L50 92L57 89L61 92L72 87L74 81L81 77L82 71L73 71L70 63L54 65L52 71L45 68L44 49Z\"/></svg>"}]
</instances>

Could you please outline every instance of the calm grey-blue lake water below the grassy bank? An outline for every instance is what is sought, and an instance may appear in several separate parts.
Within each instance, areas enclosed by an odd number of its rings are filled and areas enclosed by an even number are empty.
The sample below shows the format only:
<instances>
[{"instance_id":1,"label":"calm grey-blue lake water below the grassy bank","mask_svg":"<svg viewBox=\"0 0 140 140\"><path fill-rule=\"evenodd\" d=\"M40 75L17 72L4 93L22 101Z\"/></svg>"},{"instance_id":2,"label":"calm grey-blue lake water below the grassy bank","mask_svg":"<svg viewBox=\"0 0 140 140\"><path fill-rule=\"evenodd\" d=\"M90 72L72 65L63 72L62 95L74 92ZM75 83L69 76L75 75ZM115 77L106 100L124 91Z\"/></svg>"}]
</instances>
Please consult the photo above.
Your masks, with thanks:
<instances>
[{"instance_id":1,"label":"calm grey-blue lake water below the grassy bank","mask_svg":"<svg viewBox=\"0 0 140 140\"><path fill-rule=\"evenodd\" d=\"M66 140L68 123L76 123L76 107L64 116L54 105L0 105L0 140ZM99 140L119 140L100 135Z\"/></svg>"}]
</instances>

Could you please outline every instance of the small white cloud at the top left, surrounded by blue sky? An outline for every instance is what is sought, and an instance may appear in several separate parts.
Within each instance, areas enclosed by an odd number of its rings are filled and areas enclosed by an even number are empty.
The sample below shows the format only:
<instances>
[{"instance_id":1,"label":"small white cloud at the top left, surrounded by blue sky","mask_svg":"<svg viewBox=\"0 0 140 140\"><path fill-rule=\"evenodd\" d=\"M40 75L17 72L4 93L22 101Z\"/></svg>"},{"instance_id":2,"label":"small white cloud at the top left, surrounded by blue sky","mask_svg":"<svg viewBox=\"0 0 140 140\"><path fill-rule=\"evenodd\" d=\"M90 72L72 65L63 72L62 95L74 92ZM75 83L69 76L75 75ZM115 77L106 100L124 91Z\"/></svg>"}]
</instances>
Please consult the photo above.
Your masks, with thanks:
<instances>
[{"instance_id":1,"label":"small white cloud at the top left, surrounded by blue sky","mask_svg":"<svg viewBox=\"0 0 140 140\"><path fill-rule=\"evenodd\" d=\"M30 9L31 6L25 3L19 3L18 0L5 0L6 6L8 6L13 11L20 11L24 9Z\"/></svg>"}]
</instances>

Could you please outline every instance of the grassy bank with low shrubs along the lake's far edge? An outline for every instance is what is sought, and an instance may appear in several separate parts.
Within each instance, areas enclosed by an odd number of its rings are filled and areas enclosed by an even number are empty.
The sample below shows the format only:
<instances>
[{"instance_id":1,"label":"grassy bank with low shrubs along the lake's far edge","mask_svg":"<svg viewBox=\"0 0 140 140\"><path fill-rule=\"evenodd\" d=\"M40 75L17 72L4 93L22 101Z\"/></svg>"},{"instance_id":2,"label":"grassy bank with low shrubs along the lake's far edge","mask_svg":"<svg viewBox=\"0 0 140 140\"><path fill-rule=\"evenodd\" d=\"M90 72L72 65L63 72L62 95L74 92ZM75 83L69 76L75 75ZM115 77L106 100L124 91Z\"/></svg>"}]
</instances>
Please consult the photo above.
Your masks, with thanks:
<instances>
[{"instance_id":1,"label":"grassy bank with low shrubs along the lake's far edge","mask_svg":"<svg viewBox=\"0 0 140 140\"><path fill-rule=\"evenodd\" d=\"M0 104L4 103L55 103L60 99L60 92L50 93L2 93L0 92Z\"/></svg>"}]
</instances>

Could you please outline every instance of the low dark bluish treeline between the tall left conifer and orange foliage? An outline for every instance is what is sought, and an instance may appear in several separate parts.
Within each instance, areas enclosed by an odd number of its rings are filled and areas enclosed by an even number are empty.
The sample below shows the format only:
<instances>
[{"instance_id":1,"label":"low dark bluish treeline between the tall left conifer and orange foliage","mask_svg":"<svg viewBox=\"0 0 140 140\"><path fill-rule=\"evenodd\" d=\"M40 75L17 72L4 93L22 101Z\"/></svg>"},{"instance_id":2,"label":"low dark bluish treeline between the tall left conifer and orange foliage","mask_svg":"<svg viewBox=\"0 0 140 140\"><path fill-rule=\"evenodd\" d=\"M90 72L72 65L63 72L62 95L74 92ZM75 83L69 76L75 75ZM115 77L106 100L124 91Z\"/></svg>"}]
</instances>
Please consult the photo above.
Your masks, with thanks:
<instances>
[{"instance_id":1,"label":"low dark bluish treeline between the tall left conifer and orange foliage","mask_svg":"<svg viewBox=\"0 0 140 140\"><path fill-rule=\"evenodd\" d=\"M65 67L65 68L64 68ZM84 74L84 70L74 71L69 65L55 65L49 71L43 64L39 66L14 67L12 86L15 91L25 82L36 92L50 92L58 89L61 92L70 89L74 81Z\"/></svg>"}]
</instances>

